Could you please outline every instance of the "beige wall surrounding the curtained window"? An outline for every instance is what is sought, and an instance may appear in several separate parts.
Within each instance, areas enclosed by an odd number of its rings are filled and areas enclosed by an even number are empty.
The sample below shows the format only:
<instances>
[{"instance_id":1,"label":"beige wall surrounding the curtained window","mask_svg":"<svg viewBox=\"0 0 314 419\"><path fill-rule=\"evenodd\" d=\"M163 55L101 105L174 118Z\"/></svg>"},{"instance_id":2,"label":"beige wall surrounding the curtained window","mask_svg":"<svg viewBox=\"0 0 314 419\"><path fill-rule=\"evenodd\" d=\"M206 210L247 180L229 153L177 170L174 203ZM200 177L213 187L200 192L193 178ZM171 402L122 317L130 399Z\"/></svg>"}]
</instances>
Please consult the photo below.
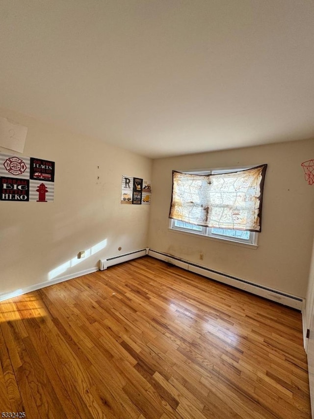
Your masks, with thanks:
<instances>
[{"instance_id":1,"label":"beige wall surrounding the curtained window","mask_svg":"<svg viewBox=\"0 0 314 419\"><path fill-rule=\"evenodd\" d=\"M301 162L314 158L314 140L272 144L153 162L149 247L235 277L306 296L314 233L314 185ZM172 170L267 163L258 249L168 230ZM204 254L200 261L199 254Z\"/></svg>"}]
</instances>

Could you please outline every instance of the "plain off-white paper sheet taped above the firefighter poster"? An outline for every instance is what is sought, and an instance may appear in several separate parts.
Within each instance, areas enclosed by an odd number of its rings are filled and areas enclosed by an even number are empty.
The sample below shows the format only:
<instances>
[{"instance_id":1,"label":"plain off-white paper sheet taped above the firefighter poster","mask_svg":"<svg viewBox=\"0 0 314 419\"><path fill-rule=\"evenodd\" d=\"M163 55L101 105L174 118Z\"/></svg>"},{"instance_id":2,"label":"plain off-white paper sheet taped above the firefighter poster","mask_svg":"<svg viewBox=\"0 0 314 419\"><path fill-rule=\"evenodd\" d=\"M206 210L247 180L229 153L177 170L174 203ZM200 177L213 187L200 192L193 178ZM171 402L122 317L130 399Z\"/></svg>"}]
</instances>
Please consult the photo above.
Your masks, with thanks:
<instances>
[{"instance_id":1,"label":"plain off-white paper sheet taped above the firefighter poster","mask_svg":"<svg viewBox=\"0 0 314 419\"><path fill-rule=\"evenodd\" d=\"M0 147L23 153L27 127L0 116Z\"/></svg>"}]
</instances>

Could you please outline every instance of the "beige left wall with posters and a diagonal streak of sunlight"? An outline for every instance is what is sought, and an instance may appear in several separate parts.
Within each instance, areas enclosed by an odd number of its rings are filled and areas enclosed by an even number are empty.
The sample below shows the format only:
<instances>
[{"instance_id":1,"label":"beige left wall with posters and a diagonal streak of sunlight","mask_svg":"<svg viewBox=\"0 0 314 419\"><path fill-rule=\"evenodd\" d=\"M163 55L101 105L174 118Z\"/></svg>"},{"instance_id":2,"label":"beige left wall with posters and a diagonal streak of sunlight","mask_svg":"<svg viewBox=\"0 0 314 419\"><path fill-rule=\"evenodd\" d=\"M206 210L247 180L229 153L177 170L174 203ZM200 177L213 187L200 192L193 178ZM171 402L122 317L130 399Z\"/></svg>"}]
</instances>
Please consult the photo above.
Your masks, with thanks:
<instances>
[{"instance_id":1,"label":"beige left wall with posters and a diagonal streak of sunlight","mask_svg":"<svg viewBox=\"0 0 314 419\"><path fill-rule=\"evenodd\" d=\"M151 179L150 159L6 109L0 116L26 125L23 154L53 160L56 170L54 203L0 202L0 296L147 246L150 206L121 205L120 196L123 174Z\"/></svg>"}]
</instances>

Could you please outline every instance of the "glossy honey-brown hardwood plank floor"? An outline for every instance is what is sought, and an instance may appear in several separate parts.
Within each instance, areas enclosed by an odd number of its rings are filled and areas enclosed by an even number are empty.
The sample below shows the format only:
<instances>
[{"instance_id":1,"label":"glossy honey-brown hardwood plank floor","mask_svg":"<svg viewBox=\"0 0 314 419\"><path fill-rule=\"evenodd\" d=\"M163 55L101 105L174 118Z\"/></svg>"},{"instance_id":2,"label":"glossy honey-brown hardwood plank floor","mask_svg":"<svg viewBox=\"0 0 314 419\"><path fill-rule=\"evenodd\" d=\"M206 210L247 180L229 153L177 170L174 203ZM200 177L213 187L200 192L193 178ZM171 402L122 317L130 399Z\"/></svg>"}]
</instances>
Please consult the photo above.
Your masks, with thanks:
<instances>
[{"instance_id":1,"label":"glossy honey-brown hardwood plank floor","mask_svg":"<svg viewBox=\"0 0 314 419\"><path fill-rule=\"evenodd\" d=\"M301 314L133 260L0 303L0 415L311 418Z\"/></svg>"}]
</instances>

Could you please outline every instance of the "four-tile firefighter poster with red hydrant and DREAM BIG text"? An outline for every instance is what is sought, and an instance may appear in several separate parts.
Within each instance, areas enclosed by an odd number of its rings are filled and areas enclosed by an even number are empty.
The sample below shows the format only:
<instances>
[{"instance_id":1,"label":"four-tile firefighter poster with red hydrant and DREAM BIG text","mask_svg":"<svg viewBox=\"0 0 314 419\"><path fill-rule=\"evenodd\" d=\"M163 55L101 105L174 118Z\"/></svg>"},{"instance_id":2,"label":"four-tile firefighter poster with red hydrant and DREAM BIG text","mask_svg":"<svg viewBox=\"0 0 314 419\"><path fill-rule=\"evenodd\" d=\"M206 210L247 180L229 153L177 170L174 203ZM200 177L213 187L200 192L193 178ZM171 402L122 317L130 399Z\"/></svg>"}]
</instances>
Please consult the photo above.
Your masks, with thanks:
<instances>
[{"instance_id":1,"label":"four-tile firefighter poster with red hydrant and DREAM BIG text","mask_svg":"<svg viewBox=\"0 0 314 419\"><path fill-rule=\"evenodd\" d=\"M0 154L0 201L53 202L54 161Z\"/></svg>"}]
</instances>

